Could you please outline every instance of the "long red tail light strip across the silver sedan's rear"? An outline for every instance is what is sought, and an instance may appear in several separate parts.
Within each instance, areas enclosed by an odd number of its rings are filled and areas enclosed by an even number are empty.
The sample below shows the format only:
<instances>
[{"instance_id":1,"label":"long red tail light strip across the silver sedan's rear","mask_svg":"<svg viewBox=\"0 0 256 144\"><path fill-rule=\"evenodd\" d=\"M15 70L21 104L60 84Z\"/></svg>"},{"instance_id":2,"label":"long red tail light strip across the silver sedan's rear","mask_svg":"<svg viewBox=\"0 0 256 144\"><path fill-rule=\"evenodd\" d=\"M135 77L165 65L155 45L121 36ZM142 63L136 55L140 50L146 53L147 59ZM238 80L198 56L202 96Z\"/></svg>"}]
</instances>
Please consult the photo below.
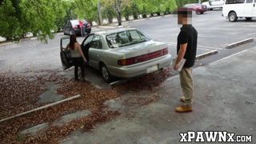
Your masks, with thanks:
<instances>
[{"instance_id":1,"label":"long red tail light strip across the silver sedan's rear","mask_svg":"<svg viewBox=\"0 0 256 144\"><path fill-rule=\"evenodd\" d=\"M158 50L150 54L143 54L134 58L120 59L118 60L118 65L129 66L139 62L146 62L150 59L158 58L166 54L168 54L168 48L165 48L163 50Z\"/></svg>"}]
</instances>

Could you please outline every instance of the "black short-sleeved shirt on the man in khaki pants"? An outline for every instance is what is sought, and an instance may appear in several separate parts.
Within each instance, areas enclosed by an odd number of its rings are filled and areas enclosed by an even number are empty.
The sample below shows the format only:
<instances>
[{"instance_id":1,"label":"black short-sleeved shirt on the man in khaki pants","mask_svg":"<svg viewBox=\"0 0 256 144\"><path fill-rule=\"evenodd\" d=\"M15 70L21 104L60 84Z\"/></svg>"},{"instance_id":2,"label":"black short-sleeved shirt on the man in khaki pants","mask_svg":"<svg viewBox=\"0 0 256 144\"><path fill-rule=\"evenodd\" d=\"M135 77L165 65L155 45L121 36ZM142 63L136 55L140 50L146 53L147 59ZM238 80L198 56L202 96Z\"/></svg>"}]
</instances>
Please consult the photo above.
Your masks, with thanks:
<instances>
[{"instance_id":1,"label":"black short-sleeved shirt on the man in khaki pants","mask_svg":"<svg viewBox=\"0 0 256 144\"><path fill-rule=\"evenodd\" d=\"M180 46L185 43L187 43L187 47L186 54L184 56L184 58L186 59L184 67L190 68L194 66L198 45L198 31L195 30L192 25L182 26L181 31L178 34L177 54Z\"/></svg>"}]
</instances>

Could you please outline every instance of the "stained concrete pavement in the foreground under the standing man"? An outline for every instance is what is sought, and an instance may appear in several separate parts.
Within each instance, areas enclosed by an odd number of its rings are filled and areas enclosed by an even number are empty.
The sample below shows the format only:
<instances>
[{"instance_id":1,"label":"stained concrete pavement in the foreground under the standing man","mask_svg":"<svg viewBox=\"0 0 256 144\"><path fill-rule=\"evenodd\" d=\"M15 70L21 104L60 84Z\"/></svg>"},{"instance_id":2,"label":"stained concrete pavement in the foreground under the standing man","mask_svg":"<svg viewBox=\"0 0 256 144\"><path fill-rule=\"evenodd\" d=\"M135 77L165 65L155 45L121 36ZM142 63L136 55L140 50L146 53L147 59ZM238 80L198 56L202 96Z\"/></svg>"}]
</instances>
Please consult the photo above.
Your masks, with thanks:
<instances>
[{"instance_id":1,"label":"stained concrete pavement in the foreground under the standing man","mask_svg":"<svg viewBox=\"0 0 256 144\"><path fill-rule=\"evenodd\" d=\"M91 132L77 130L62 143L179 143L188 130L218 130L256 137L256 47L194 69L194 111L177 114L181 90L179 78L156 88L158 102L126 106L132 94L120 100L122 115L95 126ZM144 91L145 97L150 92ZM130 115L133 115L132 117Z\"/></svg>"}]
</instances>

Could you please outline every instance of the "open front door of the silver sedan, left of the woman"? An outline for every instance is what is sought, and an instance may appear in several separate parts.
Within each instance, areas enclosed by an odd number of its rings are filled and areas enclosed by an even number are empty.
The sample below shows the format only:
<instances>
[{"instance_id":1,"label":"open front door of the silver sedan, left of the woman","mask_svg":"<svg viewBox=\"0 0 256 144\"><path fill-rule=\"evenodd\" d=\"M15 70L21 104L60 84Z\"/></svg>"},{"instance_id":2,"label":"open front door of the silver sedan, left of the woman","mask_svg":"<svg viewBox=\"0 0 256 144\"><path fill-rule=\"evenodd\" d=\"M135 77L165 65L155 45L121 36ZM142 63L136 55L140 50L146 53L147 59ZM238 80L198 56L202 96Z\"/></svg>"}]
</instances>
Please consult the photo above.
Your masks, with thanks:
<instances>
[{"instance_id":1,"label":"open front door of the silver sedan, left of the woman","mask_svg":"<svg viewBox=\"0 0 256 144\"><path fill-rule=\"evenodd\" d=\"M66 46L70 43L70 37L63 37L61 38L60 43L60 57L62 61L62 69L66 70L69 69L73 65L70 50L66 50Z\"/></svg>"}]
</instances>

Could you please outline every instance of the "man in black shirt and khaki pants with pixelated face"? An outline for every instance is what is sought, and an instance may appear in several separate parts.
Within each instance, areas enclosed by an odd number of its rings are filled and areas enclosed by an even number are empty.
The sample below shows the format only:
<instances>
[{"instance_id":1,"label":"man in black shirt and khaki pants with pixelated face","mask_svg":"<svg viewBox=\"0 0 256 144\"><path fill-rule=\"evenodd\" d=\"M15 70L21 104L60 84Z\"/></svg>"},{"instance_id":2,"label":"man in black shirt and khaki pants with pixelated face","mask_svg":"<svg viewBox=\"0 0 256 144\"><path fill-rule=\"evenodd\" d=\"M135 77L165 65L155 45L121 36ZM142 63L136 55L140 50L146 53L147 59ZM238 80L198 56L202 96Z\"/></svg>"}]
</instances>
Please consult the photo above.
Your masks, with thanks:
<instances>
[{"instance_id":1,"label":"man in black shirt and khaki pants with pixelated face","mask_svg":"<svg viewBox=\"0 0 256 144\"><path fill-rule=\"evenodd\" d=\"M176 112L186 113L192 111L192 98L194 94L192 67L197 53L198 32L191 25L192 11L187 8L178 10L178 24L182 25L181 31L178 34L177 54L178 57L174 63L174 70L178 70L178 63L182 58L186 62L179 72L180 82L182 86L183 96L181 101L184 102L182 106L176 107Z\"/></svg>"}]
</instances>

